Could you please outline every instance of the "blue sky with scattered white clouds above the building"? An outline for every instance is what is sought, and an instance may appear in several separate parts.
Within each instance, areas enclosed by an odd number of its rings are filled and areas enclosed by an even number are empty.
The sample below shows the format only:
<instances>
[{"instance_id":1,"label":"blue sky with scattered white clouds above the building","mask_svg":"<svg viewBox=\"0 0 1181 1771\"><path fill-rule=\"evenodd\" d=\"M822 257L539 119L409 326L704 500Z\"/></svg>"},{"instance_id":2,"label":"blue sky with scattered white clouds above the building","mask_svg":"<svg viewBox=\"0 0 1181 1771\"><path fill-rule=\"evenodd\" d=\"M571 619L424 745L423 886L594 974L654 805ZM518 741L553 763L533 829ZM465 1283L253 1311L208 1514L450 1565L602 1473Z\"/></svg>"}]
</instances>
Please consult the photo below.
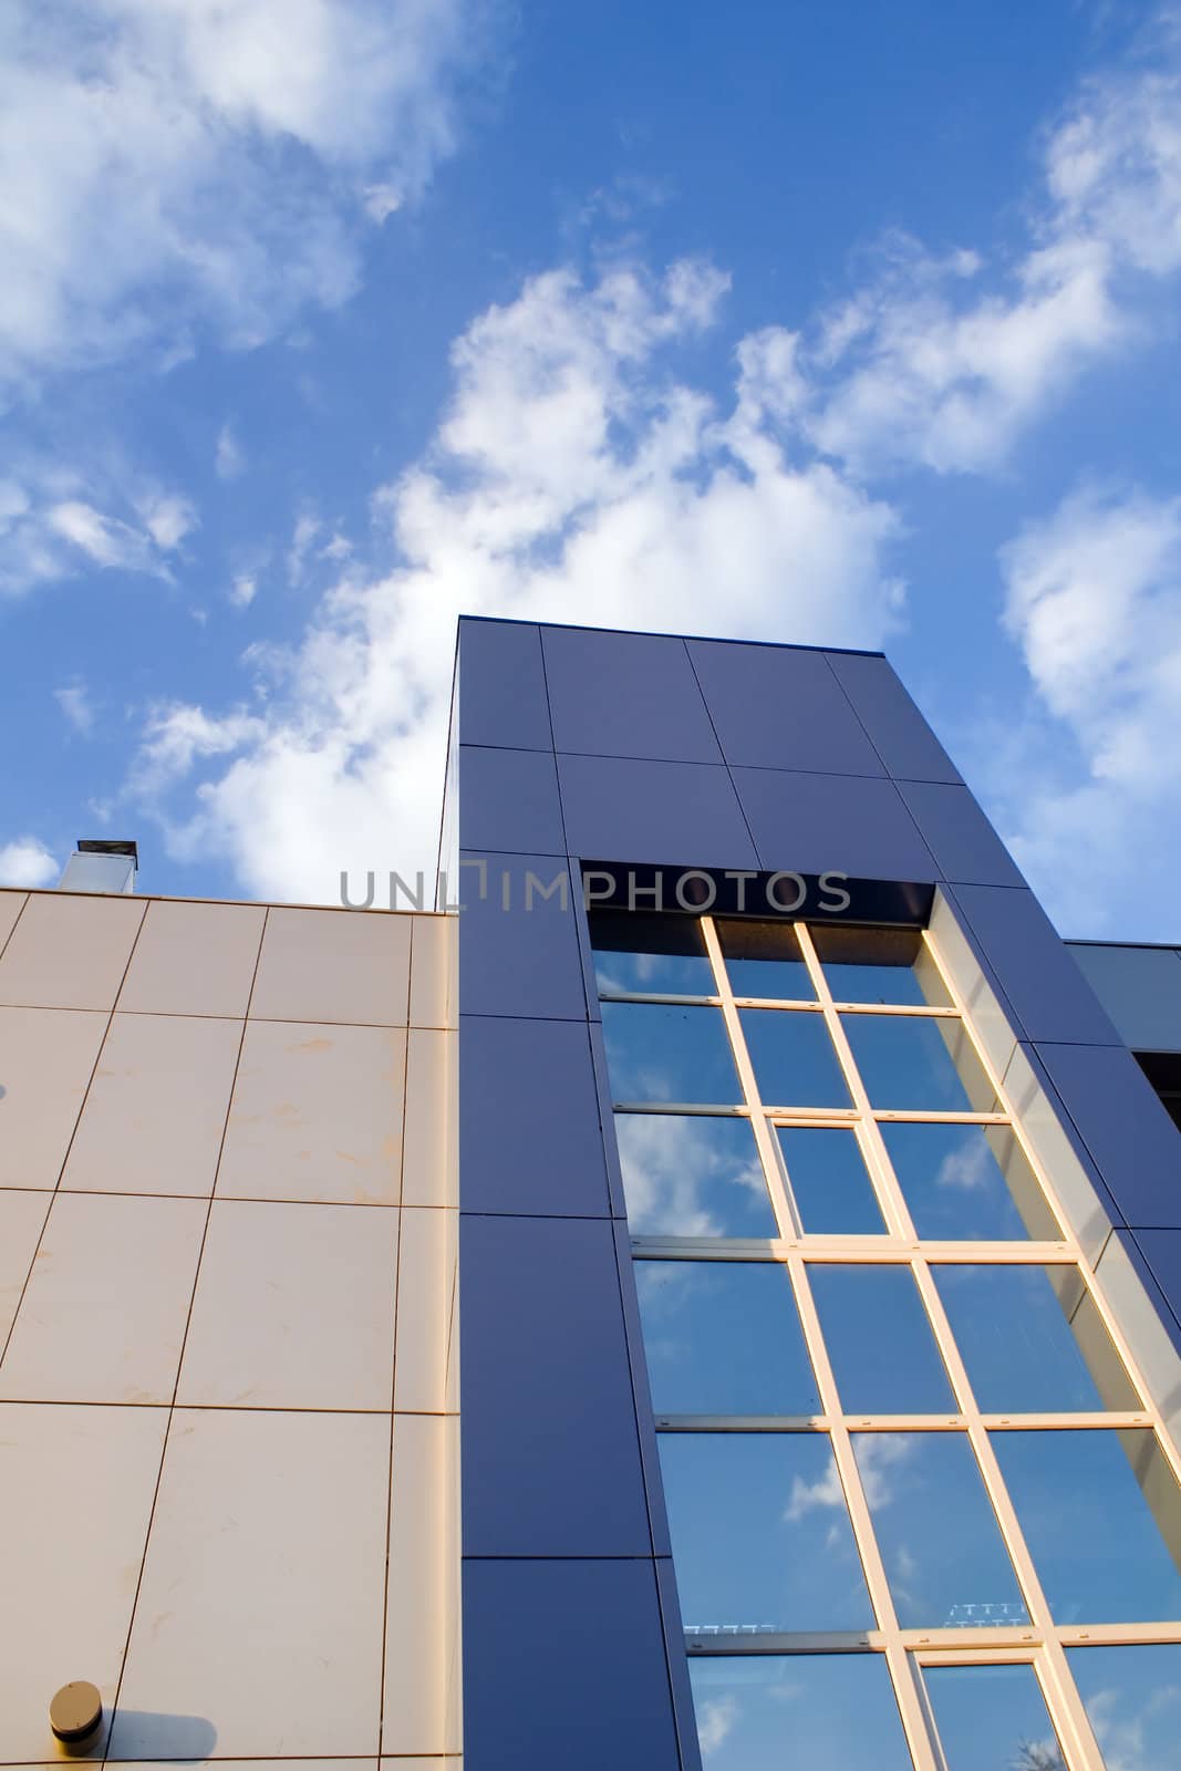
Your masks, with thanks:
<instances>
[{"instance_id":1,"label":"blue sky with scattered white clouds above the building","mask_svg":"<svg viewBox=\"0 0 1181 1771\"><path fill-rule=\"evenodd\" d=\"M430 866L455 615L885 646L1181 939L1181 9L14 0L0 875Z\"/></svg>"}]
</instances>

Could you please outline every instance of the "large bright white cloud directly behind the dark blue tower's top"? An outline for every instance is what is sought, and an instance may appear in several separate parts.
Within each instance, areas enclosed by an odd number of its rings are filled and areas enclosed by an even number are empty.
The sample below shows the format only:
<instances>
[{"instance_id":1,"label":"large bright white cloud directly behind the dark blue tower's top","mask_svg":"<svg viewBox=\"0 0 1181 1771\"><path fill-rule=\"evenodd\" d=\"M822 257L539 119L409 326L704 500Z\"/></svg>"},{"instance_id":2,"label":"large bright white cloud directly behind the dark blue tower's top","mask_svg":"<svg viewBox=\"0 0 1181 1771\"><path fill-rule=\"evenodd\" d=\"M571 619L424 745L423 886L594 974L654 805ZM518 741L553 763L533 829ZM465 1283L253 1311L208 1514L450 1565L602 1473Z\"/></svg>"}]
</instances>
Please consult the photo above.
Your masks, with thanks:
<instances>
[{"instance_id":1,"label":"large bright white cloud directly behind the dark blue tower's top","mask_svg":"<svg viewBox=\"0 0 1181 1771\"><path fill-rule=\"evenodd\" d=\"M744 344L728 411L673 374L724 290L696 260L590 287L552 271L475 321L434 446L375 498L398 565L345 565L292 652L253 653L253 723L184 710L235 737L227 767L193 749L191 776L147 769L179 852L212 845L248 889L313 900L343 868L430 868L460 611L838 645L892 627L892 510L784 446L790 336ZM296 576L319 535L305 512Z\"/></svg>"}]
</instances>

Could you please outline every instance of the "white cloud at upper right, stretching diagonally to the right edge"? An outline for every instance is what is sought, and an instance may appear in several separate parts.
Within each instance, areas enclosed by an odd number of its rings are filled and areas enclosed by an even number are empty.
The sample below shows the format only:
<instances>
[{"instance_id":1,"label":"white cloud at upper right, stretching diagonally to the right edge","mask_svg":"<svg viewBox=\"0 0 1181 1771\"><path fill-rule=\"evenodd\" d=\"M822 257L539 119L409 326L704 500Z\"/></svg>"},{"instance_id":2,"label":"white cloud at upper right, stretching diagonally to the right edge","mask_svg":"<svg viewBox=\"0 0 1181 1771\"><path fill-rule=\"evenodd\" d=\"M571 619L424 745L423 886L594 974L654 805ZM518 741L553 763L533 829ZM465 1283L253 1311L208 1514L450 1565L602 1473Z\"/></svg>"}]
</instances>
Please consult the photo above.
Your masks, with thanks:
<instances>
[{"instance_id":1,"label":"white cloud at upper right, stretching diagonally to the right edge","mask_svg":"<svg viewBox=\"0 0 1181 1771\"><path fill-rule=\"evenodd\" d=\"M868 475L993 471L1084 370L1135 344L1153 280L1181 269L1176 11L1162 30L1162 66L1087 81L1046 133L1007 269L896 237L876 280L822 317L804 414L822 452Z\"/></svg>"}]
</instances>

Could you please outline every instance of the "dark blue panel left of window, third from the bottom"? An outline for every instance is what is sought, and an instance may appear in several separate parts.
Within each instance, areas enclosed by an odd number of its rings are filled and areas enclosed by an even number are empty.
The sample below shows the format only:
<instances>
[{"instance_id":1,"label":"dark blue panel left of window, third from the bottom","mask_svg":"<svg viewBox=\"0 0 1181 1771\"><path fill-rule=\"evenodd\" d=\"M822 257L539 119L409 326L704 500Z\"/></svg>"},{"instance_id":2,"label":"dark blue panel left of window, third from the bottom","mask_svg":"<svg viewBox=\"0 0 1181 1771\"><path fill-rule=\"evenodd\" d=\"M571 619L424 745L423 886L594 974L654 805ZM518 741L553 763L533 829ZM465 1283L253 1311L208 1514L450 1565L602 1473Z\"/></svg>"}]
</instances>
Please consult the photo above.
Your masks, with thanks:
<instances>
[{"instance_id":1,"label":"dark blue panel left of window, third from the bottom","mask_svg":"<svg viewBox=\"0 0 1181 1771\"><path fill-rule=\"evenodd\" d=\"M609 1217L590 1027L460 1015L466 1211Z\"/></svg>"}]
</instances>

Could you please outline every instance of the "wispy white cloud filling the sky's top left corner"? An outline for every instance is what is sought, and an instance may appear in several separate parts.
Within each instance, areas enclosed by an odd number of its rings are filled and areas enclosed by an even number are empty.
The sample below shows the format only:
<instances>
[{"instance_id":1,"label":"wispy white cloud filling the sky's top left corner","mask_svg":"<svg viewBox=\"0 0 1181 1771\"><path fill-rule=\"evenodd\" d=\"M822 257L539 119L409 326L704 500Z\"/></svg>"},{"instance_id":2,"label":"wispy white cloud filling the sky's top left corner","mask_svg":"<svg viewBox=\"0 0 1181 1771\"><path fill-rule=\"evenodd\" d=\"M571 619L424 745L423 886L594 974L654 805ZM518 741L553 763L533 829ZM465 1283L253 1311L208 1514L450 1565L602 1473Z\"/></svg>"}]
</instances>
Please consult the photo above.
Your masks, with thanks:
<instances>
[{"instance_id":1,"label":"wispy white cloud filling the sky's top left corner","mask_svg":"<svg viewBox=\"0 0 1181 1771\"><path fill-rule=\"evenodd\" d=\"M0 383L280 333L455 145L494 0L12 0Z\"/></svg>"}]
</instances>

